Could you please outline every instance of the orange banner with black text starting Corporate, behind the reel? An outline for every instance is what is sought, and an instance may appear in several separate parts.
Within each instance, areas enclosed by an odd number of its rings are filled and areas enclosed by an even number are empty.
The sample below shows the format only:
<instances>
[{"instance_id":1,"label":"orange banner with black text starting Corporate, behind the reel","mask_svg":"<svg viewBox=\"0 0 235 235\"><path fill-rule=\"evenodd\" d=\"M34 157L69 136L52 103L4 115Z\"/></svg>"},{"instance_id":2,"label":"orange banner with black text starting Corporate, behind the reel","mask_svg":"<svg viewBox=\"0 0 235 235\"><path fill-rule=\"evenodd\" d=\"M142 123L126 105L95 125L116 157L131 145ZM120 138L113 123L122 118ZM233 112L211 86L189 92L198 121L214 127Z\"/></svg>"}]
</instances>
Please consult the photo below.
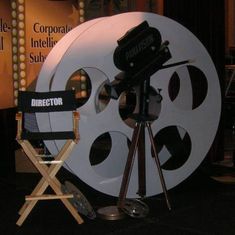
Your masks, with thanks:
<instances>
[{"instance_id":1,"label":"orange banner with black text starting Corporate, behind the reel","mask_svg":"<svg viewBox=\"0 0 235 235\"><path fill-rule=\"evenodd\" d=\"M21 82L20 86L34 90L36 78L50 50L60 38L79 24L77 4L78 1L74 0L25 0L24 51L27 81Z\"/></svg>"}]
</instances>

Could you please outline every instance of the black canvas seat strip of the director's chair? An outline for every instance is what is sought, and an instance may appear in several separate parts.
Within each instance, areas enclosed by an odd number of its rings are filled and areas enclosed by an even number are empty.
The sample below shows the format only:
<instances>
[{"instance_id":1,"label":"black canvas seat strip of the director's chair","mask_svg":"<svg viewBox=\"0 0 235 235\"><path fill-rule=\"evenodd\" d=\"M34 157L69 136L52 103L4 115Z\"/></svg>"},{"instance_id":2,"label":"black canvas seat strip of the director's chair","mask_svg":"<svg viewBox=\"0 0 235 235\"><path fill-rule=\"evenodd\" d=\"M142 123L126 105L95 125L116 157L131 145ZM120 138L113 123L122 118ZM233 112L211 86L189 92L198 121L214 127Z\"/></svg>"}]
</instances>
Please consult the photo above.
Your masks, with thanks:
<instances>
[{"instance_id":1,"label":"black canvas seat strip of the director's chair","mask_svg":"<svg viewBox=\"0 0 235 235\"><path fill-rule=\"evenodd\" d=\"M75 139L73 131L57 131L57 132L29 132L23 131L22 140L65 140Z\"/></svg>"}]
</instances>

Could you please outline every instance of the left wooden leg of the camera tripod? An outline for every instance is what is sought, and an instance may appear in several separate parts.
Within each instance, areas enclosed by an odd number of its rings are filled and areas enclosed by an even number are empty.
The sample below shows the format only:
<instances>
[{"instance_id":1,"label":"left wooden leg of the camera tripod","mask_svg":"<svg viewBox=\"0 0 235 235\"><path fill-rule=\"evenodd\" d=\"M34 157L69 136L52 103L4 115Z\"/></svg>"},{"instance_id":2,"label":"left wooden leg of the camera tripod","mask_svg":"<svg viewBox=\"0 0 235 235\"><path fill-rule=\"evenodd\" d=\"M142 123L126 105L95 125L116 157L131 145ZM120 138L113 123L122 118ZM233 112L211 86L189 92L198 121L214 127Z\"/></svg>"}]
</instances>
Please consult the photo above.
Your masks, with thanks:
<instances>
[{"instance_id":1,"label":"left wooden leg of the camera tripod","mask_svg":"<svg viewBox=\"0 0 235 235\"><path fill-rule=\"evenodd\" d=\"M131 146L130 146L130 150L128 153L125 170L123 173L123 178L122 178L122 184L121 184L121 189L120 189L119 199L118 199L119 208L124 207L124 202L125 202L127 189L128 189L128 185L130 181L130 176L131 176L131 171L132 171L133 164L134 164L135 153L136 153L136 149L137 149L138 142L139 142L140 130L141 130L141 124L136 123L134 132L132 135Z\"/></svg>"}]
</instances>

